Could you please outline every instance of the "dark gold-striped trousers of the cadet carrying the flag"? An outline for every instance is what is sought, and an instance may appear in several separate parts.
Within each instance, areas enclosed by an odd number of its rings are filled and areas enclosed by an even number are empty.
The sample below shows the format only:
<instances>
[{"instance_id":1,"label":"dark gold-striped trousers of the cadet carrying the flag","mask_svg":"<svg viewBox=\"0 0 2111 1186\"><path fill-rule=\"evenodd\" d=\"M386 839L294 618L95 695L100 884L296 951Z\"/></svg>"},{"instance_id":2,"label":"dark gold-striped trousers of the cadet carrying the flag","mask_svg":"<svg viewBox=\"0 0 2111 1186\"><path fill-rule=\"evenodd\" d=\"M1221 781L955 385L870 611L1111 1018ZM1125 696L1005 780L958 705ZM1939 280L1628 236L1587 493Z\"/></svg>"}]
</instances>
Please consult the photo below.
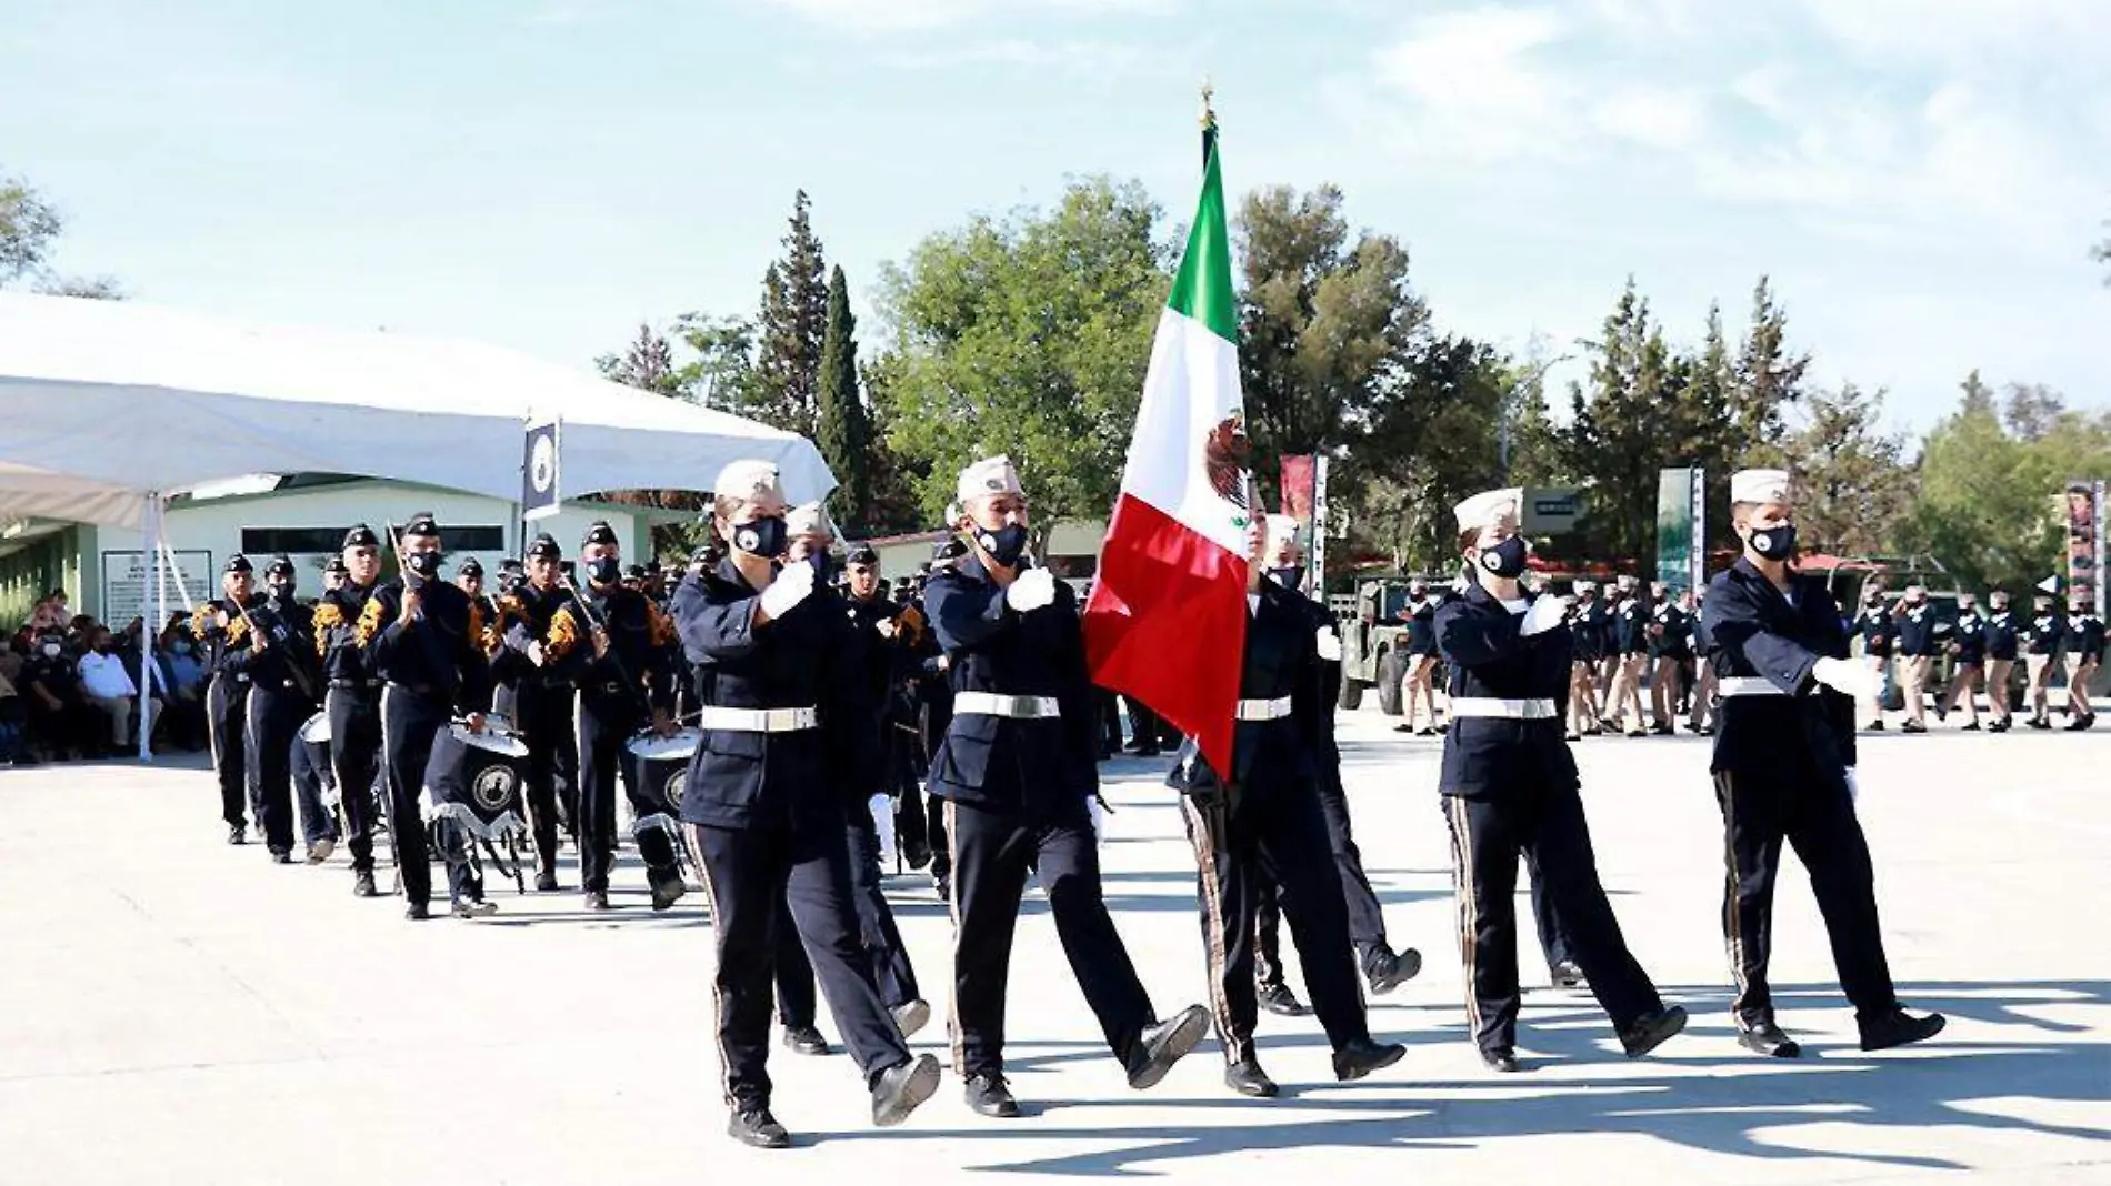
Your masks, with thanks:
<instances>
[{"instance_id":1,"label":"dark gold-striped trousers of the cadet carrying the flag","mask_svg":"<svg viewBox=\"0 0 2111 1186\"><path fill-rule=\"evenodd\" d=\"M1328 1040L1340 1049L1370 1038L1349 948L1349 912L1340 878L1328 861L1326 817L1311 785L1248 783L1229 798L1180 796L1180 806L1195 844L1210 1011L1224 1059L1254 1057L1254 1024L1260 1017L1254 948L1262 886L1277 888L1290 916L1290 939L1298 945L1313 1013Z\"/></svg>"}]
</instances>

